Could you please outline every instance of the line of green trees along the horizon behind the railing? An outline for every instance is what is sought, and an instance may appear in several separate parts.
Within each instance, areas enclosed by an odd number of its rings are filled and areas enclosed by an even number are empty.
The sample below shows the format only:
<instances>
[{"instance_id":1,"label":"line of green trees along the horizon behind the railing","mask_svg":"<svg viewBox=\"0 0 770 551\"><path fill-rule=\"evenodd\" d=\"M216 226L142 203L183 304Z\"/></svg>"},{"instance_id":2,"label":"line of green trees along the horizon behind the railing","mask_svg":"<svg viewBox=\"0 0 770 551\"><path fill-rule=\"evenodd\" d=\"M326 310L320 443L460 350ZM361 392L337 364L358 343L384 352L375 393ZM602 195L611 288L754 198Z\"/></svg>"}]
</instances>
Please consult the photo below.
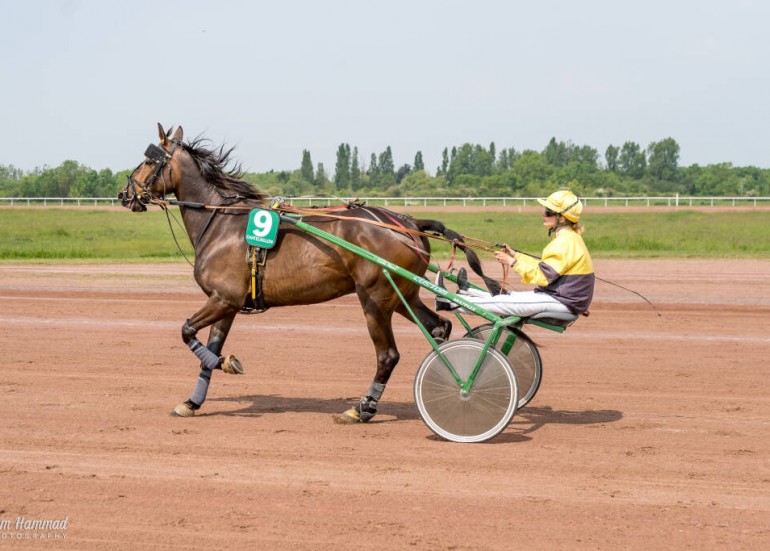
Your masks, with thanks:
<instances>
[{"instance_id":1,"label":"line of green trees along the horizon behind the railing","mask_svg":"<svg viewBox=\"0 0 770 551\"><path fill-rule=\"evenodd\" d=\"M411 164L395 166L390 146L368 158L341 143L334 170L313 164L302 152L293 171L245 173L243 178L271 195L385 197L533 197L569 187L592 197L680 195L770 196L770 169L731 163L679 166L679 144L665 138L646 148L636 142L597 149L551 138L542 151L465 143L444 148L431 171L418 151ZM113 173L65 161L55 168L23 172L0 165L3 197L112 197L130 170Z\"/></svg>"}]
</instances>

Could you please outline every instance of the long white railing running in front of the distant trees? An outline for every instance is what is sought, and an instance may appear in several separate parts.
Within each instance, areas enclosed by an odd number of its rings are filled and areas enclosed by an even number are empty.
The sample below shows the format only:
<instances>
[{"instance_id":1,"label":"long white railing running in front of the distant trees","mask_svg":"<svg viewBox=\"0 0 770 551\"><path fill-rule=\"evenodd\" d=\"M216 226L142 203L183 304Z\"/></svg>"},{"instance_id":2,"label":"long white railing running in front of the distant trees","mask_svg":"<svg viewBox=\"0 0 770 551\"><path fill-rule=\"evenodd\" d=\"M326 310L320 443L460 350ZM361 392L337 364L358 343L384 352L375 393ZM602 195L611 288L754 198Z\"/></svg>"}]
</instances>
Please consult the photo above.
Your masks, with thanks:
<instances>
[{"instance_id":1,"label":"long white railing running in front of the distant trees","mask_svg":"<svg viewBox=\"0 0 770 551\"><path fill-rule=\"evenodd\" d=\"M368 205L390 207L515 207L538 206L535 197L358 197ZM340 197L289 197L296 206L332 206L347 201ZM770 197L583 197L586 205L604 207L758 207L770 206ZM0 197L0 206L120 206L116 197Z\"/></svg>"}]
</instances>

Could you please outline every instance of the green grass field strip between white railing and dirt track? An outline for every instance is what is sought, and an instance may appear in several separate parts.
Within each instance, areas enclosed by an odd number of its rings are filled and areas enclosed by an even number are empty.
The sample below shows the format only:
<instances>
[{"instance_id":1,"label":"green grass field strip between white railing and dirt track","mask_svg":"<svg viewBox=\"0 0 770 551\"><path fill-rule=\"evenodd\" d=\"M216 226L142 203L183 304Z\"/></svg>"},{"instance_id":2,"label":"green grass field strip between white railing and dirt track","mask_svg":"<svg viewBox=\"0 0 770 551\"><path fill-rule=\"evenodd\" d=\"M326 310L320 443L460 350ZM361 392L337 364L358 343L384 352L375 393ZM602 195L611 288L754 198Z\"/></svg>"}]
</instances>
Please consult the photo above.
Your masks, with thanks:
<instances>
[{"instance_id":1,"label":"green grass field strip between white railing and dirt track","mask_svg":"<svg viewBox=\"0 0 770 551\"><path fill-rule=\"evenodd\" d=\"M394 210L398 210L397 208ZM172 210L181 221L179 213ZM416 218L434 218L463 235L506 242L539 254L547 241L536 212L439 212L427 208ZM595 258L770 258L770 216L746 210L704 212L611 212L584 217L585 241ZM187 234L172 225L185 253ZM448 246L437 243L439 256ZM374 251L376 252L376 251ZM0 260L6 261L177 261L181 254L166 215L104 208L0 209Z\"/></svg>"}]
</instances>

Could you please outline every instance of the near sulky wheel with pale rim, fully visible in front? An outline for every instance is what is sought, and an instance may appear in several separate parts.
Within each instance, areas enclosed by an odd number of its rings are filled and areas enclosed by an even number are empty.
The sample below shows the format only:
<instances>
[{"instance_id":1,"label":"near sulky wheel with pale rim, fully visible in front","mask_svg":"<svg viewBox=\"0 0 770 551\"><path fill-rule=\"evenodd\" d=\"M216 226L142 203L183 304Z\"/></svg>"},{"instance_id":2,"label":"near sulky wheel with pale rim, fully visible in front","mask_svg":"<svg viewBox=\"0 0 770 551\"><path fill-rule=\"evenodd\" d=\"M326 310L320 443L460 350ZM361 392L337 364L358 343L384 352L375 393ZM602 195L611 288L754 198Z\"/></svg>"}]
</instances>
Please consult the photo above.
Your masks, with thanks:
<instances>
[{"instance_id":1,"label":"near sulky wheel with pale rim, fully visible in front","mask_svg":"<svg viewBox=\"0 0 770 551\"><path fill-rule=\"evenodd\" d=\"M457 339L439 345L457 375L466 381L484 343ZM426 356L414 380L414 399L422 420L452 442L483 442L500 434L516 413L518 385L508 359L487 349L470 392L464 394L435 350Z\"/></svg>"}]
</instances>

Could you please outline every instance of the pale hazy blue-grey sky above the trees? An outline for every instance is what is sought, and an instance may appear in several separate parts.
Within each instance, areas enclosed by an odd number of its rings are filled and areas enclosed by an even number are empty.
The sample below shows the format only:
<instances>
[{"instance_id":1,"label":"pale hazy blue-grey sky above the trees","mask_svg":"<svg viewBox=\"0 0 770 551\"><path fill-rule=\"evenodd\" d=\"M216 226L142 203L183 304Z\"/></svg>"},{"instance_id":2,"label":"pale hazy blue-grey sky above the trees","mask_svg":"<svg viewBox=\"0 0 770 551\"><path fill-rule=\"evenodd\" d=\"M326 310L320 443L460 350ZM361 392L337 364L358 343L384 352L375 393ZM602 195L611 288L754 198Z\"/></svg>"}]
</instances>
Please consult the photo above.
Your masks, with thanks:
<instances>
[{"instance_id":1,"label":"pale hazy blue-grey sky above the trees","mask_svg":"<svg viewBox=\"0 0 770 551\"><path fill-rule=\"evenodd\" d=\"M331 176L464 143L770 167L765 0L0 0L0 164L119 171L158 142Z\"/></svg>"}]
</instances>

